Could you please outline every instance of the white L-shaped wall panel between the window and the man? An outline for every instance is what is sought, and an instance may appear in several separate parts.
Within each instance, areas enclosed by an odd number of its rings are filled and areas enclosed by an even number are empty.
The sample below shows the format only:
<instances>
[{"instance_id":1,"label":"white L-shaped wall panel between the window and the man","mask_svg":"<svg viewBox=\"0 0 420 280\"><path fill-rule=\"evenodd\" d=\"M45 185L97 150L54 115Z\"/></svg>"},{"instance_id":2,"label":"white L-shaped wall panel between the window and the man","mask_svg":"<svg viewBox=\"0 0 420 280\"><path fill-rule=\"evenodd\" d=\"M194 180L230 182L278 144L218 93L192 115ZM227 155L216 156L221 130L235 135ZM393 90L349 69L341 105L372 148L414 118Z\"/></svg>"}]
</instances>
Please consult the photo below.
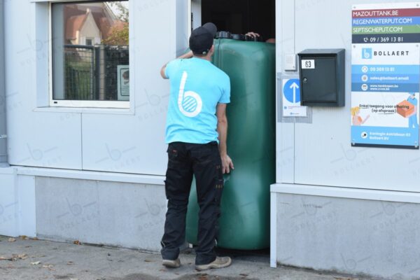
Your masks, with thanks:
<instances>
[{"instance_id":1,"label":"white L-shaped wall panel between the window and the man","mask_svg":"<svg viewBox=\"0 0 420 280\"><path fill-rule=\"evenodd\" d=\"M135 114L83 114L83 169L165 174L169 83L160 77L160 68L176 57L175 2L134 2L130 76Z\"/></svg>"}]
</instances>

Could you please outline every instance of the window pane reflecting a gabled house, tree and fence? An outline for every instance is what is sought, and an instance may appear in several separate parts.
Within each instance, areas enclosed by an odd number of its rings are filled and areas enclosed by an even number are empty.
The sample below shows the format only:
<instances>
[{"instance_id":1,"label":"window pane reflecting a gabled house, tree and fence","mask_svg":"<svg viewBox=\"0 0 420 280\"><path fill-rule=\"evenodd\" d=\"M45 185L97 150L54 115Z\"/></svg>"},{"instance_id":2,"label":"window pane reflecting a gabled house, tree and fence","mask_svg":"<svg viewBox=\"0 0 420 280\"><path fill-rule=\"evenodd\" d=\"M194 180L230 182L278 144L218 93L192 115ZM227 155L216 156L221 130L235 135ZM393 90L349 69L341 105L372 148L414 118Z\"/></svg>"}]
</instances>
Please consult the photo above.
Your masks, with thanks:
<instances>
[{"instance_id":1,"label":"window pane reflecting a gabled house, tree and fence","mask_svg":"<svg viewBox=\"0 0 420 280\"><path fill-rule=\"evenodd\" d=\"M52 4L52 98L130 100L128 1Z\"/></svg>"}]
</instances>

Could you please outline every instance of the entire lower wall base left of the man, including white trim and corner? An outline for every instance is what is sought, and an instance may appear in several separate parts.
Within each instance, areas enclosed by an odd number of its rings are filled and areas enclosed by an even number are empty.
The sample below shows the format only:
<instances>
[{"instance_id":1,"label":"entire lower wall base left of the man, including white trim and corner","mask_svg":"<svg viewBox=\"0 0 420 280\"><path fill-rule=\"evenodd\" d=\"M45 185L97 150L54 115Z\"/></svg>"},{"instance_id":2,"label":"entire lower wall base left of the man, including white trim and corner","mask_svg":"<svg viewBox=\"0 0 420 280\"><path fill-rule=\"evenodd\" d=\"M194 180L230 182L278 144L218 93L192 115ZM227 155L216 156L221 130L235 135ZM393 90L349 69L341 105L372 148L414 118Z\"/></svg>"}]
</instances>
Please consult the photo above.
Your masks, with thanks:
<instances>
[{"instance_id":1,"label":"entire lower wall base left of the man, including white trim and corner","mask_svg":"<svg viewBox=\"0 0 420 280\"><path fill-rule=\"evenodd\" d=\"M163 178L45 172L0 169L0 235L160 250Z\"/></svg>"}]
</instances>

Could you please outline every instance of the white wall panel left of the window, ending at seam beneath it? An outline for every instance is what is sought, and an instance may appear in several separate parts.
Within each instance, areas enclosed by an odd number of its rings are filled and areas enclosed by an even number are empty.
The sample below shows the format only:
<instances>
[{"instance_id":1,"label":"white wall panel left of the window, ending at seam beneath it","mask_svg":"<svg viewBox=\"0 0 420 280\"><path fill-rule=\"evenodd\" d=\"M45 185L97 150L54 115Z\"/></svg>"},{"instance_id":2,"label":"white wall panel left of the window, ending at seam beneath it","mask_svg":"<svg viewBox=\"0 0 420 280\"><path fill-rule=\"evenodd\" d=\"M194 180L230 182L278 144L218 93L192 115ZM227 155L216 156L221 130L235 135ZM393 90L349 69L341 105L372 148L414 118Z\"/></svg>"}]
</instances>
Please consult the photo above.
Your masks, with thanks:
<instances>
[{"instance_id":1,"label":"white wall panel left of the window, ending at seam beneath it","mask_svg":"<svg viewBox=\"0 0 420 280\"><path fill-rule=\"evenodd\" d=\"M80 114L69 118L66 113L33 111L36 69L48 63L48 41L36 38L35 3L5 1L4 5L9 163L80 169ZM42 90L48 97L48 87Z\"/></svg>"}]
</instances>

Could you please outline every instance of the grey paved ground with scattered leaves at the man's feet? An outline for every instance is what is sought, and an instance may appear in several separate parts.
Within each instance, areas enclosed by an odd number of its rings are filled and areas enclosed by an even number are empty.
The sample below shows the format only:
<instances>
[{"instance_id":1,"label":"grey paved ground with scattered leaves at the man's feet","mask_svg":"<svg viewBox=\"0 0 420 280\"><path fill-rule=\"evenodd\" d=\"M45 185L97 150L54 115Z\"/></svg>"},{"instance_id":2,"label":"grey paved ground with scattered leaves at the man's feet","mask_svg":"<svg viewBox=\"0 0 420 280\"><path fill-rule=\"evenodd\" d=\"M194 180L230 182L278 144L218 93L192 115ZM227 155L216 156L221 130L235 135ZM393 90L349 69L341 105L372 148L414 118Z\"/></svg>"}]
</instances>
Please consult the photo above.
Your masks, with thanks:
<instances>
[{"instance_id":1,"label":"grey paved ground with scattered leaves at the man's feet","mask_svg":"<svg viewBox=\"0 0 420 280\"><path fill-rule=\"evenodd\" d=\"M160 255L125 248L107 248L0 236L1 280L353 280L290 267L272 269L265 254L230 253L233 265L205 273L194 269L194 254L181 255L182 266L166 269ZM356 280L356 279L354 279Z\"/></svg>"}]
</instances>

